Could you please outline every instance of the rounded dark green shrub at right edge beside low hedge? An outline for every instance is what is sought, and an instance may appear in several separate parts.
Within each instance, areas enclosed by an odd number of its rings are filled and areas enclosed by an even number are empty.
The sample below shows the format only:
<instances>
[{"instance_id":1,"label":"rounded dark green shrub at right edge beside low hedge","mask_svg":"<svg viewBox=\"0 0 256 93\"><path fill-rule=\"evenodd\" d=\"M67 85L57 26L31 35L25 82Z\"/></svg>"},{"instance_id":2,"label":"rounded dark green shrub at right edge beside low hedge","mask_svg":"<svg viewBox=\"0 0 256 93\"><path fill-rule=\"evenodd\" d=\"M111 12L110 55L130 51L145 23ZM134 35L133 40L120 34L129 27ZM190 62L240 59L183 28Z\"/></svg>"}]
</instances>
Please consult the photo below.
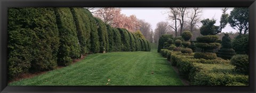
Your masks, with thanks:
<instances>
[{"instance_id":1,"label":"rounded dark green shrub at right edge beside low hedge","mask_svg":"<svg viewBox=\"0 0 256 93\"><path fill-rule=\"evenodd\" d=\"M235 65L235 71L242 74L249 74L249 56L236 55L230 60L230 63Z\"/></svg>"}]
</instances>

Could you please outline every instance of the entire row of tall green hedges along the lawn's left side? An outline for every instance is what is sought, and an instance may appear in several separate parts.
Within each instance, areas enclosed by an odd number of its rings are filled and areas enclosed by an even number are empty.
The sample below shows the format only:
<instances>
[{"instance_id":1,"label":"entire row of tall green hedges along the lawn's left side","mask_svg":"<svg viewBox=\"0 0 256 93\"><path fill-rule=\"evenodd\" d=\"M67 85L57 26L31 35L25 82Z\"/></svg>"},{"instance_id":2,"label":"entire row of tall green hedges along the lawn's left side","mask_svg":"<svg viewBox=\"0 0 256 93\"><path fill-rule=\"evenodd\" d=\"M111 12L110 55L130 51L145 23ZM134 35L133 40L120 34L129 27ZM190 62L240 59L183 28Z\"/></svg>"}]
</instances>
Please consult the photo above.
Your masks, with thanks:
<instances>
[{"instance_id":1,"label":"entire row of tall green hedges along the lawn's left side","mask_svg":"<svg viewBox=\"0 0 256 93\"><path fill-rule=\"evenodd\" d=\"M150 51L149 41L112 28L84 8L8 9L8 77L67 66L85 54Z\"/></svg>"}]
</instances>

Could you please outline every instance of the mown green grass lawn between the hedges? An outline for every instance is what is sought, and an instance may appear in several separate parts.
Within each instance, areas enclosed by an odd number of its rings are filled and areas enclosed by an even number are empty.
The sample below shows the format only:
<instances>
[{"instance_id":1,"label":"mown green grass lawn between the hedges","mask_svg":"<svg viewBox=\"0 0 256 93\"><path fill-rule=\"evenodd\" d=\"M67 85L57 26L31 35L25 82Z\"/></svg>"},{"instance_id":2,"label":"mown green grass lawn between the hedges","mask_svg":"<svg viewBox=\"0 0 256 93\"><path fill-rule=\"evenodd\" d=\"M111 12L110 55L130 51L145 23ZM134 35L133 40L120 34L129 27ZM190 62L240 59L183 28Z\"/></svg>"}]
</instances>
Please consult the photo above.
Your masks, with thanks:
<instances>
[{"instance_id":1,"label":"mown green grass lawn between the hedges","mask_svg":"<svg viewBox=\"0 0 256 93\"><path fill-rule=\"evenodd\" d=\"M154 73L152 73L154 72ZM108 81L109 80L109 81ZM107 84L108 83L108 84ZM171 65L156 52L111 52L9 85L183 85Z\"/></svg>"}]
</instances>

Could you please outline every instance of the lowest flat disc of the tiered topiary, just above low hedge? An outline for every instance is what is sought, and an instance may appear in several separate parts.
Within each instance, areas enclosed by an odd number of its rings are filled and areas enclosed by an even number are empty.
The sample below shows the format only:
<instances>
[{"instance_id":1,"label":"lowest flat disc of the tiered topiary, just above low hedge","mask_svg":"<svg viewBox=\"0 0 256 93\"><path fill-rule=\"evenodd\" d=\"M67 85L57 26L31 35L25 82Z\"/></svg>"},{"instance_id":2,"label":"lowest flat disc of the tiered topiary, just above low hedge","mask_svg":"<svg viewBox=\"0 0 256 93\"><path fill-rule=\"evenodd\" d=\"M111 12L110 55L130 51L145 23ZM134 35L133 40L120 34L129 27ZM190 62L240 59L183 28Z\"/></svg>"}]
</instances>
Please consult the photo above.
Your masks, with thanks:
<instances>
[{"instance_id":1,"label":"lowest flat disc of the tiered topiary, just above low hedge","mask_svg":"<svg viewBox=\"0 0 256 93\"><path fill-rule=\"evenodd\" d=\"M217 58L217 55L215 53L202 53L202 52L196 52L194 54L194 58L200 59L200 58L204 58L205 60L214 60Z\"/></svg>"}]
</instances>

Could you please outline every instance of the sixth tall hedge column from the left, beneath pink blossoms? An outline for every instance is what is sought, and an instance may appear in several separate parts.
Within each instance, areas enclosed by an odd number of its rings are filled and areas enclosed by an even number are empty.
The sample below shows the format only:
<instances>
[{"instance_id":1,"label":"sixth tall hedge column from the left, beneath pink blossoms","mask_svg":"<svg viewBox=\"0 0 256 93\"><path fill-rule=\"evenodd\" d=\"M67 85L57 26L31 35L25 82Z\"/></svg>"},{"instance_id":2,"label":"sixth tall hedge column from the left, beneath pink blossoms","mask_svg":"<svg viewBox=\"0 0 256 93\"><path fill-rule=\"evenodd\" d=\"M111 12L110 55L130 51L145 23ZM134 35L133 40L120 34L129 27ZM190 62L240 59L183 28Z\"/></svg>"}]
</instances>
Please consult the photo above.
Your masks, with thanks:
<instances>
[{"instance_id":1,"label":"sixth tall hedge column from the left, beneath pink blossoms","mask_svg":"<svg viewBox=\"0 0 256 93\"><path fill-rule=\"evenodd\" d=\"M114 29L106 24L107 26L107 32L108 32L108 52L113 52L114 50L114 45L115 45L115 42L114 42ZM116 37L116 36L115 36Z\"/></svg>"}]
</instances>

